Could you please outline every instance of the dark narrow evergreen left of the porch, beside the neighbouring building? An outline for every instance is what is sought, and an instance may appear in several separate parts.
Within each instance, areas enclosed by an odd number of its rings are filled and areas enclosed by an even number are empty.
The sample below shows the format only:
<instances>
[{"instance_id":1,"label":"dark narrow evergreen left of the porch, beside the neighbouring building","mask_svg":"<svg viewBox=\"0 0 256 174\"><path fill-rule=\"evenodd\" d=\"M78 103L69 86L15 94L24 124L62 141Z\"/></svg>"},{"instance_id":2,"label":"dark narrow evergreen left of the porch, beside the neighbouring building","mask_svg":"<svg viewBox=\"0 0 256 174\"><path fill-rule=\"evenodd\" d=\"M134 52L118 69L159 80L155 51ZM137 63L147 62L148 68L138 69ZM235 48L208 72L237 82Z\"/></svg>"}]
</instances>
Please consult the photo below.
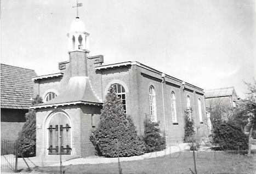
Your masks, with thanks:
<instances>
[{"instance_id":1,"label":"dark narrow evergreen left of the porch, beside the neighbouring building","mask_svg":"<svg viewBox=\"0 0 256 174\"><path fill-rule=\"evenodd\" d=\"M33 98L32 105L42 103L42 98L39 95ZM36 155L36 111L29 109L26 113L26 123L23 125L22 130L18 136L19 153L24 157Z\"/></svg>"}]
</instances>

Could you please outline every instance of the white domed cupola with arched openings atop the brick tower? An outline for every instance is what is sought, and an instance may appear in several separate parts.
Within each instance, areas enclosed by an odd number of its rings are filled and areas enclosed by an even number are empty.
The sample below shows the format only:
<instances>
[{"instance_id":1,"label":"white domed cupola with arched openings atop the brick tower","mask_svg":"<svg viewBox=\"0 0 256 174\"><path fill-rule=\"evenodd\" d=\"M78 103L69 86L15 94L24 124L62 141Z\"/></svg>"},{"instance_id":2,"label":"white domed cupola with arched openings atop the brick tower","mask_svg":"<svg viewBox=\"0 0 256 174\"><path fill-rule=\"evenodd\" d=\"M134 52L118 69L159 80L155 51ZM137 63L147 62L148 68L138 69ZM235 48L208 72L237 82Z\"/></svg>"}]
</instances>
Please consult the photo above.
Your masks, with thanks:
<instances>
[{"instance_id":1,"label":"white domed cupola with arched openings atop the brick tower","mask_svg":"<svg viewBox=\"0 0 256 174\"><path fill-rule=\"evenodd\" d=\"M69 37L69 52L88 51L89 35L90 34L86 32L86 27L84 26L83 21L81 21L79 17L73 20L70 26L70 32L67 33L67 37Z\"/></svg>"}]
</instances>

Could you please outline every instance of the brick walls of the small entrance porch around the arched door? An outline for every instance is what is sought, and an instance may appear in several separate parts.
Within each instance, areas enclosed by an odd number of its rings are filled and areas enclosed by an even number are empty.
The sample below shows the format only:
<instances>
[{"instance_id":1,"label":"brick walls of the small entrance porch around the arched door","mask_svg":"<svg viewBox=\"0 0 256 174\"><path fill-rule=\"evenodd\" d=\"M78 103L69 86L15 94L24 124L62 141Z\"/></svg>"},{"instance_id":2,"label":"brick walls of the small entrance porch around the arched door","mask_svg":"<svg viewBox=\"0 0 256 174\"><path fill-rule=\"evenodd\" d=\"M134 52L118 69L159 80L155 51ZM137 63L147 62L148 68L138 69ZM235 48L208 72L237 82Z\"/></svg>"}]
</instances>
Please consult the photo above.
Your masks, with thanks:
<instances>
[{"instance_id":1,"label":"brick walls of the small entrance porch around the arched door","mask_svg":"<svg viewBox=\"0 0 256 174\"><path fill-rule=\"evenodd\" d=\"M63 112L69 115L71 120L71 155L74 156L89 156L94 154L94 148L89 141L89 136L92 132L92 114L99 120L99 112L101 107L72 105L62 106L58 108L43 108L38 109L36 114L36 155L37 156L52 156L48 155L48 126L47 119L50 115L56 112ZM98 125L98 123L96 124Z\"/></svg>"}]
</instances>

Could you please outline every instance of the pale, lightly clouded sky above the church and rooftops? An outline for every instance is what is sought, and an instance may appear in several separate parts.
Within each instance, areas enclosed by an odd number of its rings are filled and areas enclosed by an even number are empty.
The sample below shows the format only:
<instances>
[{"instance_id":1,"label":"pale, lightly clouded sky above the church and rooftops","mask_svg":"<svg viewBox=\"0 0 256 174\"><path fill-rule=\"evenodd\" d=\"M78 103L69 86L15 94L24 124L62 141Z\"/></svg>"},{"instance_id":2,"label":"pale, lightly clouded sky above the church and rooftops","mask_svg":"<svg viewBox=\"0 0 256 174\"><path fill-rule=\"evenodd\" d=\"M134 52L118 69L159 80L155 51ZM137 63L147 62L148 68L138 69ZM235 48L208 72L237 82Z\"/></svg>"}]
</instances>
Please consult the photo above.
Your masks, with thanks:
<instances>
[{"instance_id":1,"label":"pale, lightly clouded sky above the church and rooftops","mask_svg":"<svg viewBox=\"0 0 256 174\"><path fill-rule=\"evenodd\" d=\"M203 89L256 78L254 0L79 0L90 56L138 61ZM1 1L1 63L59 72L76 1Z\"/></svg>"}]
</instances>

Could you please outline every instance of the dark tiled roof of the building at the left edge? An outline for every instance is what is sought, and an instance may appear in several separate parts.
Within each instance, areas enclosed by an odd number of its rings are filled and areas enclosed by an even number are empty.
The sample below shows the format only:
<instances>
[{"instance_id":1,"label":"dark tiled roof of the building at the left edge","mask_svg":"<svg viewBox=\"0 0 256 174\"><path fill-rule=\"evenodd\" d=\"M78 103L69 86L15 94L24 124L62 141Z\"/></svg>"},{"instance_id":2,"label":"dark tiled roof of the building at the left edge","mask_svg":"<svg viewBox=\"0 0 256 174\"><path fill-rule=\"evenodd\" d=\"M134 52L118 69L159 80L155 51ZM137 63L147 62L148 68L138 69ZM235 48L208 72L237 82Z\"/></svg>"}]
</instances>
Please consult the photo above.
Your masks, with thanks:
<instances>
[{"instance_id":1,"label":"dark tiled roof of the building at the left edge","mask_svg":"<svg viewBox=\"0 0 256 174\"><path fill-rule=\"evenodd\" d=\"M1 63L1 108L28 109L33 96L32 69Z\"/></svg>"}]
</instances>

